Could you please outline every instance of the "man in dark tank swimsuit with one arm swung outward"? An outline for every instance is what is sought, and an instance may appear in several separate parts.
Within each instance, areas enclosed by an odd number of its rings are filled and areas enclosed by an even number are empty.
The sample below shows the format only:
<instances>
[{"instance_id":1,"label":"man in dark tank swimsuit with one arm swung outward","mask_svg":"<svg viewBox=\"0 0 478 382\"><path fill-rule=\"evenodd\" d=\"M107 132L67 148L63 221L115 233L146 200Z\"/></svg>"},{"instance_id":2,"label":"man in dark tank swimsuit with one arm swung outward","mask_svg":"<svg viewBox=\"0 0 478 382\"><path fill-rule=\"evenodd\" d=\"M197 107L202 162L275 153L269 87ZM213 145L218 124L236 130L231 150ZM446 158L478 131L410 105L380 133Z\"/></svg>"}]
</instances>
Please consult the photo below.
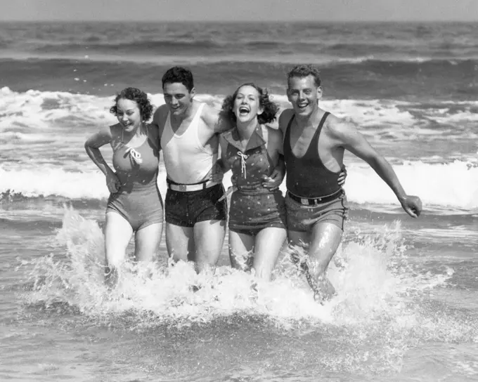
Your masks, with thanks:
<instances>
[{"instance_id":1,"label":"man in dark tank swimsuit with one arm swung outward","mask_svg":"<svg viewBox=\"0 0 478 382\"><path fill-rule=\"evenodd\" d=\"M370 146L349 122L318 106L322 97L316 67L299 65L288 73L288 100L292 109L280 114L287 169L288 238L293 246L309 246L309 264L303 265L316 301L335 294L326 271L342 239L347 197L337 185L344 151L366 161L395 193L403 210L420 216L420 198L406 195L392 166Z\"/></svg>"}]
</instances>

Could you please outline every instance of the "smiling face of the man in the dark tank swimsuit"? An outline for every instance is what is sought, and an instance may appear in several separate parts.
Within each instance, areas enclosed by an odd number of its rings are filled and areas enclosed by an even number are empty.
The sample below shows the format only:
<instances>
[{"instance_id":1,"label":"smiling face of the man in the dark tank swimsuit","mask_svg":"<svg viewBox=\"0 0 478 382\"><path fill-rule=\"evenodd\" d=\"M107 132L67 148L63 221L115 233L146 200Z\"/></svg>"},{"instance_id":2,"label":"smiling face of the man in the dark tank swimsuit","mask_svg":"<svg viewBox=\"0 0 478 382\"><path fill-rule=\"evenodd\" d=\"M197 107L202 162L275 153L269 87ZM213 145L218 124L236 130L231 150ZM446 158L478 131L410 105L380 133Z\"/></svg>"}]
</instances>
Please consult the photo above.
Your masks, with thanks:
<instances>
[{"instance_id":1,"label":"smiling face of the man in the dark tank swimsuit","mask_svg":"<svg viewBox=\"0 0 478 382\"><path fill-rule=\"evenodd\" d=\"M318 100L322 98L322 88L316 86L312 75L291 77L288 81L287 95L295 113L306 117L317 110Z\"/></svg>"}]
</instances>

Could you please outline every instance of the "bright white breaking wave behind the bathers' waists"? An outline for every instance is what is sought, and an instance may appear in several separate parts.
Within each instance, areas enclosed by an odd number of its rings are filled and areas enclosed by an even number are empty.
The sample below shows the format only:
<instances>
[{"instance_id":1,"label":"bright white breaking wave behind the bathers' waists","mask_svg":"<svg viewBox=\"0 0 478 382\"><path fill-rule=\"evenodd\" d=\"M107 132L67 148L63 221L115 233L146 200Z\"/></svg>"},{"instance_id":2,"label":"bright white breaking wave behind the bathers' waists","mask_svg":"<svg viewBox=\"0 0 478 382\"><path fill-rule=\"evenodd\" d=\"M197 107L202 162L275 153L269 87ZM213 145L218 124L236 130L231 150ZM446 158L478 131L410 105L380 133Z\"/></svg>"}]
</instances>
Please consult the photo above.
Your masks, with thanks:
<instances>
[{"instance_id":1,"label":"bright white breaking wave behind the bathers' waists","mask_svg":"<svg viewBox=\"0 0 478 382\"><path fill-rule=\"evenodd\" d=\"M467 162L408 162L394 166L394 170L406 192L422 199L425 210L432 207L444 210L478 208L478 167ZM370 167L351 165L347 174L344 189L349 202L399 207L392 190ZM161 166L158 186L163 197L166 195L165 177ZM224 185L231 185L230 173L226 174ZM281 188L285 190L285 182ZM0 164L0 193L4 193L4 197L21 194L24 197L108 198L105 177L99 171L65 171L51 166L41 170L6 171Z\"/></svg>"}]
</instances>

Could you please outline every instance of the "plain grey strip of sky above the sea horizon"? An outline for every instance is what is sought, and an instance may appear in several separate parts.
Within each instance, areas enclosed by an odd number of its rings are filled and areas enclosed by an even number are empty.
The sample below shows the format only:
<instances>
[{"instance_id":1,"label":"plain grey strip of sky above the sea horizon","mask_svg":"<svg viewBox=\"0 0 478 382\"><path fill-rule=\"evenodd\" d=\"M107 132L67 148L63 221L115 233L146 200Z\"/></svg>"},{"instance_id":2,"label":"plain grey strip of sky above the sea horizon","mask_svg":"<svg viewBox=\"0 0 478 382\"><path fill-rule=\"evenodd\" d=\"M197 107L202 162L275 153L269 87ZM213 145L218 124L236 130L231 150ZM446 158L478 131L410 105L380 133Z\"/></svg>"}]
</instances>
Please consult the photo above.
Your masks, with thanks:
<instances>
[{"instance_id":1,"label":"plain grey strip of sky above the sea horizon","mask_svg":"<svg viewBox=\"0 0 478 382\"><path fill-rule=\"evenodd\" d=\"M0 21L478 21L477 0L0 0Z\"/></svg>"}]
</instances>

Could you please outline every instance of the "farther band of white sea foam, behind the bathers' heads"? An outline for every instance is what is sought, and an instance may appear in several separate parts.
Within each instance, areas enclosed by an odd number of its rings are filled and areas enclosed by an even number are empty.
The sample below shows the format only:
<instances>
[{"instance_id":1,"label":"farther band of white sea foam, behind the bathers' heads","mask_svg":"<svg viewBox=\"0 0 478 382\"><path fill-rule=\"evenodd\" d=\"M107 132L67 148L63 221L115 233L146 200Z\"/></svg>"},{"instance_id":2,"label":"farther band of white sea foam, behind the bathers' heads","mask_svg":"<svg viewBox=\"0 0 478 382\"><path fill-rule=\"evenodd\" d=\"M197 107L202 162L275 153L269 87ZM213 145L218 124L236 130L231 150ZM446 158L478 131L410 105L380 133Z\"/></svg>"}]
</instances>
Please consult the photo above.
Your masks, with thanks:
<instances>
[{"instance_id":1,"label":"farther band of white sea foam, behind the bathers' heads","mask_svg":"<svg viewBox=\"0 0 478 382\"><path fill-rule=\"evenodd\" d=\"M29 127L46 128L49 123L65 119L75 118L93 122L114 122L115 118L109 113L113 95L100 97L97 95L73 94L62 91L26 91L19 93L10 88L0 89L0 110L2 119L0 129L5 129L13 122L16 125L25 124ZM164 104L162 93L149 94L156 107ZM272 94L273 100L281 107L289 107L286 95ZM207 102L219 108L224 94L198 94L196 99ZM387 122L389 127L412 126L417 122L416 115L411 110L417 111L415 103L407 103L395 100L333 100L324 98L321 105L333 111L339 117L346 117L359 126L380 126ZM453 102L444 101L443 107L439 103L422 109L427 119L439 123L456 123L458 121L478 121L478 115L474 109L478 108L477 101ZM458 110L451 112L450 106L460 106ZM423 127L423 126L422 126Z\"/></svg>"}]
</instances>

